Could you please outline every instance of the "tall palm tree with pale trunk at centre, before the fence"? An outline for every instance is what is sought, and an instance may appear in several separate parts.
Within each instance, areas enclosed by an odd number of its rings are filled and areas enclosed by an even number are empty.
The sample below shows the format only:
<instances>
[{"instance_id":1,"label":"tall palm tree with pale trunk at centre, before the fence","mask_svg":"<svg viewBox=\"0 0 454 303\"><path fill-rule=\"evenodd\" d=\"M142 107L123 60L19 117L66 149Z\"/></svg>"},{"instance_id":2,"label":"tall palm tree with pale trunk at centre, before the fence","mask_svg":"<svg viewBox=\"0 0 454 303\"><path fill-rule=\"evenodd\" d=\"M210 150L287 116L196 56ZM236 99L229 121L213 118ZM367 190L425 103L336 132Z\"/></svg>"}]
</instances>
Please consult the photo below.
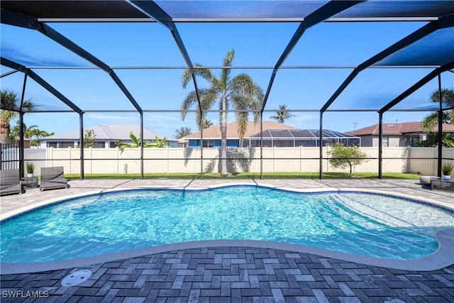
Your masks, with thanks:
<instances>
[{"instance_id":1,"label":"tall palm tree with pale trunk at centre, before the fence","mask_svg":"<svg viewBox=\"0 0 454 303\"><path fill-rule=\"evenodd\" d=\"M223 60L223 68L221 76L216 77L211 73L211 70L206 68L196 68L195 75L206 79L210 83L207 89L199 89L199 97L201 101L201 109L197 100L196 92L189 92L182 103L182 120L186 117L187 111L196 106L196 123L203 127L202 121L206 120L205 110L211 109L216 101L219 101L220 109L220 126L221 126L221 176L228 175L227 173L227 110L229 106L233 106L238 110L235 113L238 123L238 136L240 141L243 141L243 136L248 125L248 111L258 109L262 103L263 92L258 84L253 82L253 79L246 74L240 74L231 77L231 64L235 57L235 50L227 53ZM194 66L201 67L196 63ZM182 86L186 88L189 80L192 79L191 70L184 70L182 75ZM202 110L202 113L200 112ZM257 122L260 118L258 111L254 113L254 121Z\"/></svg>"}]
</instances>

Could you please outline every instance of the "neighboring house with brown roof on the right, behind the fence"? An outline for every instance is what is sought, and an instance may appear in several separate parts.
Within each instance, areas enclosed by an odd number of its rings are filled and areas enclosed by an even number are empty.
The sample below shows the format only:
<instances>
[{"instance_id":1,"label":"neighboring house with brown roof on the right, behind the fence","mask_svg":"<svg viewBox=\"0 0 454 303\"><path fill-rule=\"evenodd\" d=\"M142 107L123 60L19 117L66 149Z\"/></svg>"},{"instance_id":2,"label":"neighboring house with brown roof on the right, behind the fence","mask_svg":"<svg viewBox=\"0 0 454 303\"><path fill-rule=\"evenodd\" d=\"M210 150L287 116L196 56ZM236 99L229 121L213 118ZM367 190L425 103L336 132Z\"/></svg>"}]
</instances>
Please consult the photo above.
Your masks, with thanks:
<instances>
[{"instance_id":1,"label":"neighboring house with brown roof on the right, behind the fence","mask_svg":"<svg viewBox=\"0 0 454 303\"><path fill-rule=\"evenodd\" d=\"M433 132L438 132L438 125ZM454 125L443 123L443 133L454 133ZM362 147L377 147L378 124L346 132L348 135L361 138ZM419 146L419 142L426 140L427 133L421 129L421 122L383 123L382 145L384 147Z\"/></svg>"}]
</instances>

